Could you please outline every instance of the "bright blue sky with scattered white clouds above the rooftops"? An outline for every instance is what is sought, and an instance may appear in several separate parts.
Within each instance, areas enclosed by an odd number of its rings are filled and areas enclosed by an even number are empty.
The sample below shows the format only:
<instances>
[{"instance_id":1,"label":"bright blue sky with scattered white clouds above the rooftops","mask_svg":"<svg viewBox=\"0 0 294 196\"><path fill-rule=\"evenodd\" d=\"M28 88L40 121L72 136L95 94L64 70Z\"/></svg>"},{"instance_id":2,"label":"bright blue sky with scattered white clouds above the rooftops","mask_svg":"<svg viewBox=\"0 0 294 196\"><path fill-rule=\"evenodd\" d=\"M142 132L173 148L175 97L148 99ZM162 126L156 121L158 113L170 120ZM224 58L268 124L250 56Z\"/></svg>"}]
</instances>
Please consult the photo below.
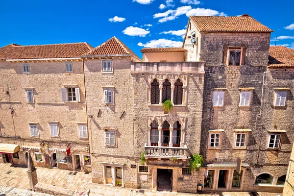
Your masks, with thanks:
<instances>
[{"instance_id":1,"label":"bright blue sky with scattered white clouds above the rooftops","mask_svg":"<svg viewBox=\"0 0 294 196\"><path fill-rule=\"evenodd\" d=\"M1 0L0 47L97 47L116 36L141 57L143 47L181 46L187 15L247 13L275 31L271 39L278 37L277 45L294 49L293 11L294 0Z\"/></svg>"}]
</instances>

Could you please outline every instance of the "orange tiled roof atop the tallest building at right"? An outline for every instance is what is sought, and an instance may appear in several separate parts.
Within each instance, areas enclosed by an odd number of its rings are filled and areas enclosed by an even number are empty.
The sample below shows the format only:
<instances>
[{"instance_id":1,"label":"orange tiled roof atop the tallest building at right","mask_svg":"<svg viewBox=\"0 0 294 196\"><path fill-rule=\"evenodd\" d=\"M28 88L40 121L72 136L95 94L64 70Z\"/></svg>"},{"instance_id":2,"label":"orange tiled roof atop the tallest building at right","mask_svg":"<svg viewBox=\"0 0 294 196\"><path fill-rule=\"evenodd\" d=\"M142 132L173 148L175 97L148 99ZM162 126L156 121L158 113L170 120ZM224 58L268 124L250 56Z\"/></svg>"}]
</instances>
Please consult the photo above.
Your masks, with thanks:
<instances>
[{"instance_id":1,"label":"orange tiled roof atop the tallest building at right","mask_svg":"<svg viewBox=\"0 0 294 196\"><path fill-rule=\"evenodd\" d=\"M200 31L207 32L273 32L251 16L190 16Z\"/></svg>"}]
</instances>

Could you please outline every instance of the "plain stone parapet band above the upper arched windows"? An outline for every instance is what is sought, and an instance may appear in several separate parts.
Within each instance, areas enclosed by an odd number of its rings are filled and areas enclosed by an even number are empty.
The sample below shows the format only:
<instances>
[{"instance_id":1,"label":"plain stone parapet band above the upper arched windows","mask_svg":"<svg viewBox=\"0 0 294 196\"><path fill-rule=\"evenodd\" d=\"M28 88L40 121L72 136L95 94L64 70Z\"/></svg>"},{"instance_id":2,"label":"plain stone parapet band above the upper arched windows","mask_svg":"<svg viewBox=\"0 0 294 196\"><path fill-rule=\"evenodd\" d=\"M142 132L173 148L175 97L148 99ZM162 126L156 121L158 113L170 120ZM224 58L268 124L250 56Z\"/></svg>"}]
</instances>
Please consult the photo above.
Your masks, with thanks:
<instances>
[{"instance_id":1,"label":"plain stone parapet band above the upper arched windows","mask_svg":"<svg viewBox=\"0 0 294 196\"><path fill-rule=\"evenodd\" d=\"M131 73L204 73L204 62L132 62Z\"/></svg>"}]
</instances>

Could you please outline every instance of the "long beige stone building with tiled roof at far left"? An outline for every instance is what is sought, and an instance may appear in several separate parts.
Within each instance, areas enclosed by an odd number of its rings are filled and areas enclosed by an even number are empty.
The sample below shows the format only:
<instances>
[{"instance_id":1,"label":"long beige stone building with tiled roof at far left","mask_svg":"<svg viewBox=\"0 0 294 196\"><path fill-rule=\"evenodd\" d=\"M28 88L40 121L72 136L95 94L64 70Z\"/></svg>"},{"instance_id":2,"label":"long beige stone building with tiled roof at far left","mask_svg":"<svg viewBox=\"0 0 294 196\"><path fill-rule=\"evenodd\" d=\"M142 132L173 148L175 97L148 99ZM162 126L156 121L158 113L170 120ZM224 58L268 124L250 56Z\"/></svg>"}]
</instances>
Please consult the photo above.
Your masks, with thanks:
<instances>
[{"instance_id":1,"label":"long beige stone building with tiled roof at far left","mask_svg":"<svg viewBox=\"0 0 294 196\"><path fill-rule=\"evenodd\" d=\"M91 171L81 54L87 43L0 48L0 162Z\"/></svg>"}]
</instances>

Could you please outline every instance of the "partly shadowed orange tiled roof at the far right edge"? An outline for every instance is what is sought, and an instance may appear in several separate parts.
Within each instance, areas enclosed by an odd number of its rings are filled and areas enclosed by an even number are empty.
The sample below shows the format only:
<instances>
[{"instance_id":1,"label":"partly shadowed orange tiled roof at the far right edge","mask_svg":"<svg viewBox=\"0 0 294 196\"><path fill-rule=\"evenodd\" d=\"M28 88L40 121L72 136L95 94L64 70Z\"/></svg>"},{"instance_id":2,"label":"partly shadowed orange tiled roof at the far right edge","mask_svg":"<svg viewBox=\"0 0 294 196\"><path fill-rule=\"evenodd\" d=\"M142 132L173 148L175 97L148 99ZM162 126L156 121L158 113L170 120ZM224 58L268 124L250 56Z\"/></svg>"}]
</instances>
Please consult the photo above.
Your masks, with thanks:
<instances>
[{"instance_id":1,"label":"partly shadowed orange tiled roof at the far right edge","mask_svg":"<svg viewBox=\"0 0 294 196\"><path fill-rule=\"evenodd\" d=\"M294 68L294 49L271 46L268 65L270 68Z\"/></svg>"}]
</instances>

